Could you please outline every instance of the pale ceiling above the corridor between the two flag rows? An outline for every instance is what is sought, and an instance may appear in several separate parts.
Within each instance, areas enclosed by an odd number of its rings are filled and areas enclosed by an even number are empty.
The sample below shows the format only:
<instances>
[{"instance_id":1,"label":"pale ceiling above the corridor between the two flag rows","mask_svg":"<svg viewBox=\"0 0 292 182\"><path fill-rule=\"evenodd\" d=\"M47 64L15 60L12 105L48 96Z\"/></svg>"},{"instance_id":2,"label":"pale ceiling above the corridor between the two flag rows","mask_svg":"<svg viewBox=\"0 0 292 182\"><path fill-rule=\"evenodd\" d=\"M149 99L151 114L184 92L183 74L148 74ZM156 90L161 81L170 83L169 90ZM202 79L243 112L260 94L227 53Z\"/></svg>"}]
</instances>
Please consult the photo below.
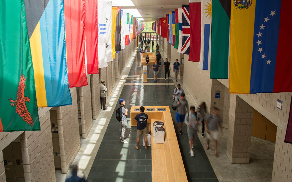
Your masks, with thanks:
<instances>
[{"instance_id":1,"label":"pale ceiling above the corridor between the two flag rows","mask_svg":"<svg viewBox=\"0 0 292 182\"><path fill-rule=\"evenodd\" d=\"M133 9L137 8L140 15L145 21L155 21L161 17L166 17L171 11L181 7L182 4L188 4L188 0L119 0L119 3L113 6L121 6L122 9ZM134 5L134 6L133 6Z\"/></svg>"}]
</instances>

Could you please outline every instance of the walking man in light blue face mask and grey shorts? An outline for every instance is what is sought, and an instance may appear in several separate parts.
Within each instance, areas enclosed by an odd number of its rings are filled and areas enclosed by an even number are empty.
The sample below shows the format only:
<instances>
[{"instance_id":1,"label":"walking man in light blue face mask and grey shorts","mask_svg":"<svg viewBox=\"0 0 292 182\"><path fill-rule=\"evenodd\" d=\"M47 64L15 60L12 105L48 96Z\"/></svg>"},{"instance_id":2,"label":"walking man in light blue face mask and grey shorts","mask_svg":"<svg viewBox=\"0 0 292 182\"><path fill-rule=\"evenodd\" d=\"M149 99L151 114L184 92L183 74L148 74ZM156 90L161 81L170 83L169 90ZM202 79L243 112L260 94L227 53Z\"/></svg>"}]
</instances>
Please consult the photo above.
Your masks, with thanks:
<instances>
[{"instance_id":1,"label":"walking man in light blue face mask and grey shorts","mask_svg":"<svg viewBox=\"0 0 292 182\"><path fill-rule=\"evenodd\" d=\"M194 157L194 139L195 135L197 134L198 130L198 121L202 121L200 113L195 112L195 107L190 107L190 112L185 115L185 123L187 124L187 135L189 137L189 143L190 143L190 155L191 157Z\"/></svg>"}]
</instances>

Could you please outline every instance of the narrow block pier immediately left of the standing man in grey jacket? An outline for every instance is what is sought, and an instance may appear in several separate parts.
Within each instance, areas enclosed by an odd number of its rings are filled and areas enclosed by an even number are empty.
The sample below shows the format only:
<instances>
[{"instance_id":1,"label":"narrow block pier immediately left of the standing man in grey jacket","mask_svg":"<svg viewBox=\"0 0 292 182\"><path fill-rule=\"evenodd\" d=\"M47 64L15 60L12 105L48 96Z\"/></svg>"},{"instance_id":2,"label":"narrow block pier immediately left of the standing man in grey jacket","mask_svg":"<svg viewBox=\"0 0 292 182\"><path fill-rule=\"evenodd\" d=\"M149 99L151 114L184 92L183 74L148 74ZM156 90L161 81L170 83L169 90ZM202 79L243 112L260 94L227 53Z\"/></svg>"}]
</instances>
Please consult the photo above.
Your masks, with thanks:
<instances>
[{"instance_id":1,"label":"narrow block pier immediately left of the standing man in grey jacket","mask_svg":"<svg viewBox=\"0 0 292 182\"><path fill-rule=\"evenodd\" d=\"M100 113L100 80L99 74L90 75L93 119L97 119Z\"/></svg>"}]
</instances>

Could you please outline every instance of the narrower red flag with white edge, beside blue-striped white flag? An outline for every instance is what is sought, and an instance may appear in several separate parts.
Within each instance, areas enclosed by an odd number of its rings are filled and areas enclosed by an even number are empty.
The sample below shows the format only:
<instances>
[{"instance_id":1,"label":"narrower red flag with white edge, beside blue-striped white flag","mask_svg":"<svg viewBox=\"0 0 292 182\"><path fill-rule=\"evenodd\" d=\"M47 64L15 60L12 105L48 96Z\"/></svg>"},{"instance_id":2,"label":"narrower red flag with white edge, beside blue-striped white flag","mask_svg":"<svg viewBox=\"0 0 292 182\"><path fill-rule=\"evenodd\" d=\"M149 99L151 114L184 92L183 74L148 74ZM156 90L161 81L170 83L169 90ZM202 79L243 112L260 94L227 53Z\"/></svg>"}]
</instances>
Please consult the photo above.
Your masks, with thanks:
<instances>
[{"instance_id":1,"label":"narrower red flag with white edge, beside blue-striped white flag","mask_svg":"<svg viewBox=\"0 0 292 182\"><path fill-rule=\"evenodd\" d=\"M98 74L97 0L85 0L85 45L87 74Z\"/></svg>"}]
</instances>

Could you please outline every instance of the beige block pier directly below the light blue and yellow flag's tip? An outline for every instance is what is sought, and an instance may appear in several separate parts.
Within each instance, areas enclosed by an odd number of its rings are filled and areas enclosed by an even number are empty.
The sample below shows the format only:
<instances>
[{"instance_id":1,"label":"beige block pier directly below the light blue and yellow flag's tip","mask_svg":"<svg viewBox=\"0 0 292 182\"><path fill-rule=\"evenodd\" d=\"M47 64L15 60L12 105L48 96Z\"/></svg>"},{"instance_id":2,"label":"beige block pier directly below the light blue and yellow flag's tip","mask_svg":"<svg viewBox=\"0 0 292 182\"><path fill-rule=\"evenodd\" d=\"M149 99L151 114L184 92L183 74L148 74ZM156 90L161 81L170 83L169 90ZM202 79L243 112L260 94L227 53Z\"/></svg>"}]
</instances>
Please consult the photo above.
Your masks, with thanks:
<instances>
[{"instance_id":1,"label":"beige block pier directly below the light blue and yellow flag's tip","mask_svg":"<svg viewBox=\"0 0 292 182\"><path fill-rule=\"evenodd\" d=\"M67 173L80 149L76 88L70 88L72 105L57 107L62 173Z\"/></svg>"}]
</instances>

